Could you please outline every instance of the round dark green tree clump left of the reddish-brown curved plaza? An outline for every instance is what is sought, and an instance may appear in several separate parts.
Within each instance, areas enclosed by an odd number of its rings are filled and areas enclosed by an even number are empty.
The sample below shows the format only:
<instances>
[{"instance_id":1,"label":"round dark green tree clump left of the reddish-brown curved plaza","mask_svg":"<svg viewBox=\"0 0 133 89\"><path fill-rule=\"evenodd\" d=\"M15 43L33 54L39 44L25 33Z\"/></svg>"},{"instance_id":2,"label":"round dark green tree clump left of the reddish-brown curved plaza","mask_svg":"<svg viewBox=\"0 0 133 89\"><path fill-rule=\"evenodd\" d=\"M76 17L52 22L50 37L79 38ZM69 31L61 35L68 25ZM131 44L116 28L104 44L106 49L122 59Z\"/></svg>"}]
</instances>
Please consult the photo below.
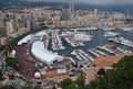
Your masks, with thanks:
<instances>
[{"instance_id":1,"label":"round dark green tree clump left of the reddish-brown curved plaza","mask_svg":"<svg viewBox=\"0 0 133 89\"><path fill-rule=\"evenodd\" d=\"M12 68L16 68L17 64L18 64L17 58L14 58L14 57L7 57L6 63L8 66L10 66Z\"/></svg>"}]
</instances>

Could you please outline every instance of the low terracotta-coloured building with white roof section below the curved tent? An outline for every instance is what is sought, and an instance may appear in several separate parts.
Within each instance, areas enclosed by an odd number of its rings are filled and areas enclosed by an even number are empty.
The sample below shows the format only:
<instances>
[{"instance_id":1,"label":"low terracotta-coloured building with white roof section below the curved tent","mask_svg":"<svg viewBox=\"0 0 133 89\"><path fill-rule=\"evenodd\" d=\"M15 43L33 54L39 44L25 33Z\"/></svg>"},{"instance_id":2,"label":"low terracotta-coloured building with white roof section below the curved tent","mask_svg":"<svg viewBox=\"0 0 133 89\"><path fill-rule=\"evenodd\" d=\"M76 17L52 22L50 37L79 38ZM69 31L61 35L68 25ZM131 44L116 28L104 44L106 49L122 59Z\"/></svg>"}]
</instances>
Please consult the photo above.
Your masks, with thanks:
<instances>
[{"instance_id":1,"label":"low terracotta-coloured building with white roof section below the curved tent","mask_svg":"<svg viewBox=\"0 0 133 89\"><path fill-rule=\"evenodd\" d=\"M60 82L69 78L69 71L66 69L41 70L41 75L44 81Z\"/></svg>"}]
</instances>

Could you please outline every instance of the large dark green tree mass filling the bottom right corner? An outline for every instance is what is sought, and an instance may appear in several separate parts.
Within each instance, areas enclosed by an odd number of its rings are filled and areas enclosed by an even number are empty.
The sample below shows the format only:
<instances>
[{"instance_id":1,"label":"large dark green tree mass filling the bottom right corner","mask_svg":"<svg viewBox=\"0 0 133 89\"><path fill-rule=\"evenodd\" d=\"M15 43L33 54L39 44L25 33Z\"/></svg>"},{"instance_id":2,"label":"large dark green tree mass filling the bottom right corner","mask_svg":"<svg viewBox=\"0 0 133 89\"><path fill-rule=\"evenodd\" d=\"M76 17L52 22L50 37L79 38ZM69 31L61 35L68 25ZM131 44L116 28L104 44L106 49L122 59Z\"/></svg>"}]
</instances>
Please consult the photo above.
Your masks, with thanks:
<instances>
[{"instance_id":1,"label":"large dark green tree mass filling the bottom right corner","mask_svg":"<svg viewBox=\"0 0 133 89\"><path fill-rule=\"evenodd\" d=\"M133 56L125 56L90 89L133 89Z\"/></svg>"}]
</instances>

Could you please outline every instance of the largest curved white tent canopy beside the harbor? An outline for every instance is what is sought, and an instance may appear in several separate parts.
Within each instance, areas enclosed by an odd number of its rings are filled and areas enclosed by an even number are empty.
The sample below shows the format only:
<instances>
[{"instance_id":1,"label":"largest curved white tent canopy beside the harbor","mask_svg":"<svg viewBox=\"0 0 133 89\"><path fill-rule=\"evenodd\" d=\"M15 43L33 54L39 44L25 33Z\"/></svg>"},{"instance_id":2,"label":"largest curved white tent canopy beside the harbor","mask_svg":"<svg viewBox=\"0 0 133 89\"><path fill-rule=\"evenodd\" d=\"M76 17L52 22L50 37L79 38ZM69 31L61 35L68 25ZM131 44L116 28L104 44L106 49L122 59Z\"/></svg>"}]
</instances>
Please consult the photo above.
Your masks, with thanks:
<instances>
[{"instance_id":1,"label":"largest curved white tent canopy beside the harbor","mask_svg":"<svg viewBox=\"0 0 133 89\"><path fill-rule=\"evenodd\" d=\"M32 44L31 53L41 62L44 62L47 64L53 63L53 60L62 60L63 57L50 53L49 51L44 49L43 42L37 41Z\"/></svg>"}]
</instances>

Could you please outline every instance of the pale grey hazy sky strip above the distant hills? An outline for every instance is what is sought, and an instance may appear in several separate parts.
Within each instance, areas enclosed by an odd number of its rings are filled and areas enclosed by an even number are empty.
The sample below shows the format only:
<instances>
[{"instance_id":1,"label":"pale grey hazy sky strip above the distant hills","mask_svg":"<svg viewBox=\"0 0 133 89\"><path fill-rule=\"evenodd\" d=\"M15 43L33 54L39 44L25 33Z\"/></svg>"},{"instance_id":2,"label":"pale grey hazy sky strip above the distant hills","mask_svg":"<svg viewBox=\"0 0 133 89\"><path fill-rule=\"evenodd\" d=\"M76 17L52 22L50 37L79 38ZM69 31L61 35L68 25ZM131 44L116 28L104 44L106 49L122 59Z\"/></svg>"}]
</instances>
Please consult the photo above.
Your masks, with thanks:
<instances>
[{"instance_id":1,"label":"pale grey hazy sky strip above the distant hills","mask_svg":"<svg viewBox=\"0 0 133 89\"><path fill-rule=\"evenodd\" d=\"M83 2L89 4L133 4L133 0L30 0L30 1L60 1L60 2Z\"/></svg>"}]
</instances>

